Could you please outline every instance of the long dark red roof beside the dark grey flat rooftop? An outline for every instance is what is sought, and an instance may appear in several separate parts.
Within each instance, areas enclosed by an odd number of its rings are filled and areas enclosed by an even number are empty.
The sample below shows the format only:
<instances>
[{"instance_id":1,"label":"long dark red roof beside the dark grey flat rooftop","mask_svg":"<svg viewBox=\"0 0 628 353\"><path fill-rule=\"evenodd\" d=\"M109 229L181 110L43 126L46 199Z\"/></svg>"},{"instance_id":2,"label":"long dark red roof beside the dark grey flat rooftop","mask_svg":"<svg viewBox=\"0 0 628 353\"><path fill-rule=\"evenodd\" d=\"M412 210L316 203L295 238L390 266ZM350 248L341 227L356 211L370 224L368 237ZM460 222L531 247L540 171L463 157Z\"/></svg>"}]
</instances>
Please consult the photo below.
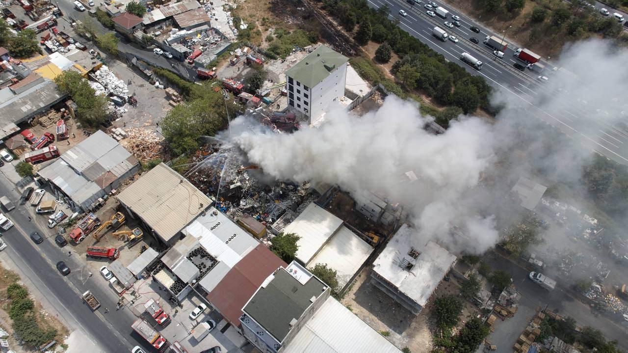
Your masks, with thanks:
<instances>
[{"instance_id":1,"label":"long dark red roof beside the dark grey flat rooftop","mask_svg":"<svg viewBox=\"0 0 628 353\"><path fill-rule=\"evenodd\" d=\"M288 264L278 258L264 244L259 244L251 253L246 254L234 268L207 295L207 300L232 325L239 327L242 307L257 288L276 269Z\"/></svg>"}]
</instances>

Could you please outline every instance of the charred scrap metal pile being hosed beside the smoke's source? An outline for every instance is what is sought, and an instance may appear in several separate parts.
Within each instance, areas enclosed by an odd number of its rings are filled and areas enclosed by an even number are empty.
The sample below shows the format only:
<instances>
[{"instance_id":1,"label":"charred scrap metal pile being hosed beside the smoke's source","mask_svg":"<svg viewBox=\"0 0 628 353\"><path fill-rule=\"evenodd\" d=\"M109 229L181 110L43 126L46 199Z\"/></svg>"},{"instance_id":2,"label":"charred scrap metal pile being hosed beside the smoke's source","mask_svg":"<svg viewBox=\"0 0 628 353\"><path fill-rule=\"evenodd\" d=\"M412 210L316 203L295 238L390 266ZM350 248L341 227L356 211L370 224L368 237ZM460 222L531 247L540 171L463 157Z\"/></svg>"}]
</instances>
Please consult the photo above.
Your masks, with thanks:
<instances>
[{"instance_id":1,"label":"charred scrap metal pile being hosed beside the smoke's source","mask_svg":"<svg viewBox=\"0 0 628 353\"><path fill-rule=\"evenodd\" d=\"M261 182L257 178L261 174L256 171L259 167L245 165L231 148L209 147L197 152L190 163L197 164L184 175L198 190L209 197L217 197L217 209L236 220L242 214L249 214L271 232L273 224L286 212L290 212L287 219L296 217L320 197L308 182ZM279 225L279 229L283 227Z\"/></svg>"}]
</instances>

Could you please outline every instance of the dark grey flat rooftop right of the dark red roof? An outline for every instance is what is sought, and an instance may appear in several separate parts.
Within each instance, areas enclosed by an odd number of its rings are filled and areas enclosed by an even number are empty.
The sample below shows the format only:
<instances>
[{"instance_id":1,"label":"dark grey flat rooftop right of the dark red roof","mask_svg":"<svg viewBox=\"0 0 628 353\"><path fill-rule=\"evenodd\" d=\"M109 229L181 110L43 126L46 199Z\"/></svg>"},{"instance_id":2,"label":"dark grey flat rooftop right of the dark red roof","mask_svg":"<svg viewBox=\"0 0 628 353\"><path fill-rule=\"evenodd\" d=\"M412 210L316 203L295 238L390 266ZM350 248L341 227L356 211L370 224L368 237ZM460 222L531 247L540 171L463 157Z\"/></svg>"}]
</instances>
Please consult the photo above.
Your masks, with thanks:
<instances>
[{"instance_id":1,"label":"dark grey flat rooftop right of the dark red roof","mask_svg":"<svg viewBox=\"0 0 628 353\"><path fill-rule=\"evenodd\" d=\"M267 281L264 281L243 311L279 342L283 342L290 332L290 322L298 320L313 303L311 298L318 298L327 286L314 276L301 284L284 268L278 269L272 280Z\"/></svg>"}]
</instances>

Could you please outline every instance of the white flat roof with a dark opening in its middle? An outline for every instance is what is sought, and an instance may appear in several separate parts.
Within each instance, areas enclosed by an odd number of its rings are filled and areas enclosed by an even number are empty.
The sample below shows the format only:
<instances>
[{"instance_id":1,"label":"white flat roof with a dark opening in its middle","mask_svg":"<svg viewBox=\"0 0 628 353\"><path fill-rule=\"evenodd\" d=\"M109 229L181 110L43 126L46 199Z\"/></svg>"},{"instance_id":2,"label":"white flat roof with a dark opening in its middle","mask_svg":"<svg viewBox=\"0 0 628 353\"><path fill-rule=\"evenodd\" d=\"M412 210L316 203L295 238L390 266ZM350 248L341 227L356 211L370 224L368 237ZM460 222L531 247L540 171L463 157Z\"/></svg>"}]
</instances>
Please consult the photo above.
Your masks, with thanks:
<instances>
[{"instance_id":1,"label":"white flat roof with a dark opening in its middle","mask_svg":"<svg viewBox=\"0 0 628 353\"><path fill-rule=\"evenodd\" d=\"M407 261L408 266L402 267ZM453 266L456 257L433 241L421 240L404 224L373 263L373 271L421 307Z\"/></svg>"}]
</instances>

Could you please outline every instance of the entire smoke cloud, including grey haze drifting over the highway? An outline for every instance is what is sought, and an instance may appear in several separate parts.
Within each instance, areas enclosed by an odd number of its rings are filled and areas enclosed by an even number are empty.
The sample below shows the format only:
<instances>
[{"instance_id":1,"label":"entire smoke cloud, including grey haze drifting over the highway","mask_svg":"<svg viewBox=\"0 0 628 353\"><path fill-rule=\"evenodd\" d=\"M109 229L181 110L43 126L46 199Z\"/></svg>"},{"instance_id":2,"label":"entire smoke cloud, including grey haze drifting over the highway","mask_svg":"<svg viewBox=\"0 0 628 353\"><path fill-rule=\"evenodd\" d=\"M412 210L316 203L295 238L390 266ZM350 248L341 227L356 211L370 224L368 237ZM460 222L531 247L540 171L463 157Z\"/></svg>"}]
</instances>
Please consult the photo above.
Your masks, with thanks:
<instances>
[{"instance_id":1,"label":"entire smoke cloud, including grey haze drifting over the highway","mask_svg":"<svg viewBox=\"0 0 628 353\"><path fill-rule=\"evenodd\" d=\"M591 134L598 126L591 122L611 124L612 117L628 110L625 52L587 41L572 45L562 57L566 60L560 65L578 77L548 68L542 73L548 83L536 87L536 94L522 96L527 102L497 90L493 100L504 108L495 124L460 117L436 136L423 129L431 117L421 116L416 104L387 97L380 109L361 117L334 107L322 126L294 134L275 134L238 117L231 125L232 141L274 178L337 184L353 195L379 193L404 205L423 236L450 251L482 253L499 240L496 229L519 216L501 209L519 176L578 183L583 163L596 147ZM539 119L544 113L538 108L548 115ZM575 138L568 140L548 121ZM587 148L580 148L580 140ZM411 182L408 171L418 180ZM483 173L492 175L490 186L480 183ZM506 223L498 227L495 215ZM452 233L453 225L465 236Z\"/></svg>"}]
</instances>

